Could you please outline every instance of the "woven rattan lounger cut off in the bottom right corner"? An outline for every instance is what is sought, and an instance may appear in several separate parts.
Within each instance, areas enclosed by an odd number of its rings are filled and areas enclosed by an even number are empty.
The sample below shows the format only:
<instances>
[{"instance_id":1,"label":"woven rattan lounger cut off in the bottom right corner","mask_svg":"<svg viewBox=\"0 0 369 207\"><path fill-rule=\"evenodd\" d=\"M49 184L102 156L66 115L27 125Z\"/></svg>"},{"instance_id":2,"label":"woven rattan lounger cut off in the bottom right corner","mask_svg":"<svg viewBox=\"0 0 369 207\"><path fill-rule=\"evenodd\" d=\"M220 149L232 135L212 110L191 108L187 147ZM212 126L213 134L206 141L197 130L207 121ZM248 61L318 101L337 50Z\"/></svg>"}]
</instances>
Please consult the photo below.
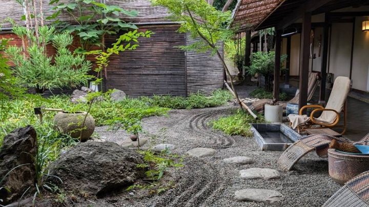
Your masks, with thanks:
<instances>
[{"instance_id":1,"label":"woven rattan lounger cut off in the bottom right corner","mask_svg":"<svg viewBox=\"0 0 369 207\"><path fill-rule=\"evenodd\" d=\"M322 207L369 206L369 171L348 180Z\"/></svg>"}]
</instances>

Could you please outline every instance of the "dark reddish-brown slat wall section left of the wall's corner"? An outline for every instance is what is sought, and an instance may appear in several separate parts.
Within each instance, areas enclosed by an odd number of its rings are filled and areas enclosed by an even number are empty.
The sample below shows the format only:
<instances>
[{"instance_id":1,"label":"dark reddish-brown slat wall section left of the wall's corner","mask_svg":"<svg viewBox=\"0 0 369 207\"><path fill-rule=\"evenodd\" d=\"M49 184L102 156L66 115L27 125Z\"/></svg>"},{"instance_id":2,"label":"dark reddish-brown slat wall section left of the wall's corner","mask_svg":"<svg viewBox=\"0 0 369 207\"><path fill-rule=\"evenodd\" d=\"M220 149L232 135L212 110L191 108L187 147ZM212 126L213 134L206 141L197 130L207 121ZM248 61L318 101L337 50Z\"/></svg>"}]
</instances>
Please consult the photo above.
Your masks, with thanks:
<instances>
[{"instance_id":1,"label":"dark reddish-brown slat wall section left of the wall's corner","mask_svg":"<svg viewBox=\"0 0 369 207\"><path fill-rule=\"evenodd\" d=\"M112 56L108 66L108 89L120 89L130 97L153 94L186 95L185 52L175 46L185 44L185 34L178 25L141 27L155 32L151 38L140 38L139 47ZM116 37L107 38L107 45Z\"/></svg>"}]
</instances>

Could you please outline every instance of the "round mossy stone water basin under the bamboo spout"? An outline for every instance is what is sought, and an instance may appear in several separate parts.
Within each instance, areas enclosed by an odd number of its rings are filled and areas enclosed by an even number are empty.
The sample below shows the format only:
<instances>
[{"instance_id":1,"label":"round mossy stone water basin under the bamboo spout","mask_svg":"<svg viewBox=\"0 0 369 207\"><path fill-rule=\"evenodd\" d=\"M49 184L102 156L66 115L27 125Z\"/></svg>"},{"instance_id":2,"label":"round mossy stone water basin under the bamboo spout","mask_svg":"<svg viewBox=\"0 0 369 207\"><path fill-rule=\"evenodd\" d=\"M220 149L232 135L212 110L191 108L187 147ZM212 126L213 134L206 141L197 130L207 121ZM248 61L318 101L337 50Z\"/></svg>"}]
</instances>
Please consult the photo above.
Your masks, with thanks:
<instances>
[{"instance_id":1,"label":"round mossy stone water basin under the bamboo spout","mask_svg":"<svg viewBox=\"0 0 369 207\"><path fill-rule=\"evenodd\" d=\"M54 124L56 129L60 132L69 134L73 138L79 138L81 135L81 141L85 142L89 139L95 130L95 120L85 111L76 111L74 113L58 112L54 117ZM83 129L82 124L86 117L86 121ZM82 133L81 133L82 130Z\"/></svg>"}]
</instances>

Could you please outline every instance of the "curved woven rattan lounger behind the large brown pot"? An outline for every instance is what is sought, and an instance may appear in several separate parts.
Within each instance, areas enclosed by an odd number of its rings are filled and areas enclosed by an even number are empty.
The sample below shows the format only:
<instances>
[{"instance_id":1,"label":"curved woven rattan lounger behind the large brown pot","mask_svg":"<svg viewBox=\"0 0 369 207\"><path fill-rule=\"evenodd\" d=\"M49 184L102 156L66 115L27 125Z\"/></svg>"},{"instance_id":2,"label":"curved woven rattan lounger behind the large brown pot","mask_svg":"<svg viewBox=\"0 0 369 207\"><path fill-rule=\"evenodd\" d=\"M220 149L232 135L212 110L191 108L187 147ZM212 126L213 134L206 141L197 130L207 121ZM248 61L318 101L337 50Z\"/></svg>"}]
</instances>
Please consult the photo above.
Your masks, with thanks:
<instances>
[{"instance_id":1,"label":"curved woven rattan lounger behind the large brown pot","mask_svg":"<svg viewBox=\"0 0 369 207\"><path fill-rule=\"evenodd\" d=\"M355 152L357 149L353 146L354 144L369 145L369 133L366 134L359 142L351 142L342 137L335 137L326 134L313 134L302 137L281 154L277 164L280 169L289 171L301 157L314 150L318 156L325 158L327 157L327 151L330 144L333 144L333 141L336 145L340 146L338 149Z\"/></svg>"}]
</instances>

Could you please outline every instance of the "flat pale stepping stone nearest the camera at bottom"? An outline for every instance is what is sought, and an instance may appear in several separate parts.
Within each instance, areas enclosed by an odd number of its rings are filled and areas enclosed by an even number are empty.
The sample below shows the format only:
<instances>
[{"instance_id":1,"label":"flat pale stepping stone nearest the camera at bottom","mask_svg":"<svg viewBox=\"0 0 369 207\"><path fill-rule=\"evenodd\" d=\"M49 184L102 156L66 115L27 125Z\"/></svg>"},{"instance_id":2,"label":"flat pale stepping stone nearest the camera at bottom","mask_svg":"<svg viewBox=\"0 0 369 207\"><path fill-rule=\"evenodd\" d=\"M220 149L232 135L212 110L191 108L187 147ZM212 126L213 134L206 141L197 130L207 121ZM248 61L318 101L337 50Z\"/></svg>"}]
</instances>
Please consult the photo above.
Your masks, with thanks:
<instances>
[{"instance_id":1,"label":"flat pale stepping stone nearest the camera at bottom","mask_svg":"<svg viewBox=\"0 0 369 207\"><path fill-rule=\"evenodd\" d=\"M278 191L266 189L244 189L236 191L234 198L238 201L275 202L282 198Z\"/></svg>"}]
</instances>

